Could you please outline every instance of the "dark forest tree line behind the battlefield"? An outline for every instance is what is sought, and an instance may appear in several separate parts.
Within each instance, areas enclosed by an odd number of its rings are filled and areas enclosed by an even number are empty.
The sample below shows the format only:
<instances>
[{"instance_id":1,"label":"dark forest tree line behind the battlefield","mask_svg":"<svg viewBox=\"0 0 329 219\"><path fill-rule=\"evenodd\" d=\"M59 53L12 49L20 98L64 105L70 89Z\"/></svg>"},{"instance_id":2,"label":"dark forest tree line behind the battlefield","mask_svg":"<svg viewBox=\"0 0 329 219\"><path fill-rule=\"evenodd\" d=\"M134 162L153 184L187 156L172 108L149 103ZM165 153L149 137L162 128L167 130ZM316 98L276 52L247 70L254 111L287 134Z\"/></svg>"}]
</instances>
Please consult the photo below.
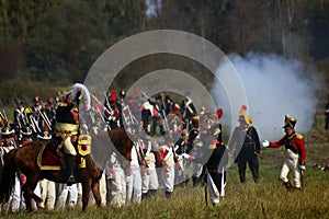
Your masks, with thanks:
<instances>
[{"instance_id":1,"label":"dark forest tree line behind the battlefield","mask_svg":"<svg viewBox=\"0 0 329 219\"><path fill-rule=\"evenodd\" d=\"M81 82L111 45L159 28L197 34L226 54L274 53L328 69L328 0L1 0L0 80ZM148 56L127 66L115 84L174 65L208 81L202 67L174 60Z\"/></svg>"}]
</instances>

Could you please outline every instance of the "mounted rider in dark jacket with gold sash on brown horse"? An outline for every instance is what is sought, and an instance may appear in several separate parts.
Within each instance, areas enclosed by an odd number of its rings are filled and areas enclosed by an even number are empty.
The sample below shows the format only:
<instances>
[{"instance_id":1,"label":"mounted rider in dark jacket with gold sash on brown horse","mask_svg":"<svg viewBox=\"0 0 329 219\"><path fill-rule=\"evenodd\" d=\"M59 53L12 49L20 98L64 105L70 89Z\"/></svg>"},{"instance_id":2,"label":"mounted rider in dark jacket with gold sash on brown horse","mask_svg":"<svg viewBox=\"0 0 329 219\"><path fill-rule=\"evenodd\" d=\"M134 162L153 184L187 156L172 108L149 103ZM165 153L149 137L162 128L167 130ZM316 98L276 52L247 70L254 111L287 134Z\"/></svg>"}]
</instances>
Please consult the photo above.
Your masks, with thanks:
<instances>
[{"instance_id":1,"label":"mounted rider in dark jacket with gold sash on brown horse","mask_svg":"<svg viewBox=\"0 0 329 219\"><path fill-rule=\"evenodd\" d=\"M69 93L65 102L59 103L56 111L55 134L56 137L60 139L57 152L59 152L61 148L64 149L68 183L75 183L76 181L73 170L77 151L73 145L78 140L79 130L78 101L79 100L73 100L71 93Z\"/></svg>"}]
</instances>

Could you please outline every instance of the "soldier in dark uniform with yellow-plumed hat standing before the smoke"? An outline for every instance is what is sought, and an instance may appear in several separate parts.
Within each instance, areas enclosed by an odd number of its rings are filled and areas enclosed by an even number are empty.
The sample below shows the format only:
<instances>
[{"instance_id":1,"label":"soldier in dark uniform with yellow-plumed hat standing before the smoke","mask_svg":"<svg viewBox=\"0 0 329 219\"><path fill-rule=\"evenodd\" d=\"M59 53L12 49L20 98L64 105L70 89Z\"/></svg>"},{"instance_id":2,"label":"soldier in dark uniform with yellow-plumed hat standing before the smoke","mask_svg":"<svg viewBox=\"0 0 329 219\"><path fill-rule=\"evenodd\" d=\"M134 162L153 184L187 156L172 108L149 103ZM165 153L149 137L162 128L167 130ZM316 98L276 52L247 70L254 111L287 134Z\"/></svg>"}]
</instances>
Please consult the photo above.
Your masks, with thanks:
<instances>
[{"instance_id":1,"label":"soldier in dark uniform with yellow-plumed hat standing before the smoke","mask_svg":"<svg viewBox=\"0 0 329 219\"><path fill-rule=\"evenodd\" d=\"M238 163L240 182L246 182L247 162L252 173L253 181L259 178L258 155L261 152L258 132L252 124L252 117L246 116L247 106L242 105L238 122L230 142L230 150L234 151L235 162ZM235 149L235 150L234 150Z\"/></svg>"}]
</instances>

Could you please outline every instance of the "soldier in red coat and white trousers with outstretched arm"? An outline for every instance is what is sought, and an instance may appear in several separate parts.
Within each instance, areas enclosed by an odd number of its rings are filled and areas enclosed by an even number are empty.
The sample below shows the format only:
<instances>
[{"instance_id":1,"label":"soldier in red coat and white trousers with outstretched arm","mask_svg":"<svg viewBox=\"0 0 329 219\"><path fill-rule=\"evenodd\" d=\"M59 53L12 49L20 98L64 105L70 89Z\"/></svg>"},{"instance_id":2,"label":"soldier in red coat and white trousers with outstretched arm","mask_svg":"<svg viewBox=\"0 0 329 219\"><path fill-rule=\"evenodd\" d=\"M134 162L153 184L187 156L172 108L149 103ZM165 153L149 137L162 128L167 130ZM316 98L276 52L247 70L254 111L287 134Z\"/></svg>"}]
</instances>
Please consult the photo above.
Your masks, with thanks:
<instances>
[{"instance_id":1,"label":"soldier in red coat and white trousers with outstretched arm","mask_svg":"<svg viewBox=\"0 0 329 219\"><path fill-rule=\"evenodd\" d=\"M302 189L302 174L305 170L306 149L303 136L295 132L295 125L297 119L285 115L284 131L285 136L276 142L262 142L263 147L279 148L285 146L286 158L281 169L280 178L283 181L285 187L292 191L294 187ZM288 180L288 173L292 172L294 176L294 186Z\"/></svg>"}]
</instances>

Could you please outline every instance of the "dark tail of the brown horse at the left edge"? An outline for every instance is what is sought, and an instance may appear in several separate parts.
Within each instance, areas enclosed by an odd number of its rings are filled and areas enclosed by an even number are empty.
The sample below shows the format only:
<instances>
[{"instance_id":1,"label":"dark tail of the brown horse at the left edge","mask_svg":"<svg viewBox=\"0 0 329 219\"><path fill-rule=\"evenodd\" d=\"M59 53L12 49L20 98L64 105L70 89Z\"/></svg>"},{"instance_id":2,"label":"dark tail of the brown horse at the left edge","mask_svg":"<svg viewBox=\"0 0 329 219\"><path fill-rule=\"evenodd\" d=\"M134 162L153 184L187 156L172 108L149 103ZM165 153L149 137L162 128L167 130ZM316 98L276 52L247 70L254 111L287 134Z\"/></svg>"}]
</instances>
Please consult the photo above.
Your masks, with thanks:
<instances>
[{"instance_id":1,"label":"dark tail of the brown horse at the left edge","mask_svg":"<svg viewBox=\"0 0 329 219\"><path fill-rule=\"evenodd\" d=\"M0 180L0 203L9 200L13 186L15 184L16 165L14 162L14 158L16 151L18 149L13 149L4 155L4 164L2 168Z\"/></svg>"}]
</instances>

